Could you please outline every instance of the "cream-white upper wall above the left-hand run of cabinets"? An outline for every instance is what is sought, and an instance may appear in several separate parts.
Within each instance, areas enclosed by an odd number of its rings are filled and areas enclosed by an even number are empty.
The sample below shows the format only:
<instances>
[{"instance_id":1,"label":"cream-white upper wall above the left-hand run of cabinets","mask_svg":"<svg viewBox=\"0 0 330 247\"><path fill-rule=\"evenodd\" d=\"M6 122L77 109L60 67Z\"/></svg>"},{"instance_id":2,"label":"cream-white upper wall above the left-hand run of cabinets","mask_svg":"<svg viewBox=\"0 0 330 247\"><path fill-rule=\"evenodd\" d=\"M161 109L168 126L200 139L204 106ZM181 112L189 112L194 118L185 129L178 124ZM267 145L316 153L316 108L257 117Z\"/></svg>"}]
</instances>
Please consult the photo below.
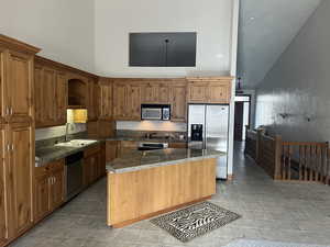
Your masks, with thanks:
<instances>
[{"instance_id":1,"label":"cream-white upper wall above the left-hand run of cabinets","mask_svg":"<svg viewBox=\"0 0 330 247\"><path fill-rule=\"evenodd\" d=\"M0 33L87 71L95 65L95 0L0 0Z\"/></svg>"}]
</instances>

